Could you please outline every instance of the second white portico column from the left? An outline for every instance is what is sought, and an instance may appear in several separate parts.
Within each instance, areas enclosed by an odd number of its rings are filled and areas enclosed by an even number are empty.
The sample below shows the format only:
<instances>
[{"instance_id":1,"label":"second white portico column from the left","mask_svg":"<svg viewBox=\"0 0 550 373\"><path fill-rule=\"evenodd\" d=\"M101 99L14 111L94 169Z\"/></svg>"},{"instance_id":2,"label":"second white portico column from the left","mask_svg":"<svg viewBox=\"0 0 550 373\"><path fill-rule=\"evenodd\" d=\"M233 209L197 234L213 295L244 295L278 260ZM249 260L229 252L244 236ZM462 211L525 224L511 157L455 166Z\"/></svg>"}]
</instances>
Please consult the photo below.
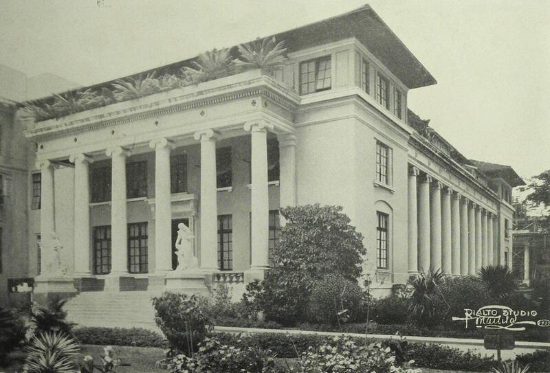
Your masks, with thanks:
<instances>
[{"instance_id":1,"label":"second white portico column from the left","mask_svg":"<svg viewBox=\"0 0 550 373\"><path fill-rule=\"evenodd\" d=\"M89 163L92 160L77 154L69 157L69 161L74 163L74 277L85 277L91 275Z\"/></svg>"}]
</instances>

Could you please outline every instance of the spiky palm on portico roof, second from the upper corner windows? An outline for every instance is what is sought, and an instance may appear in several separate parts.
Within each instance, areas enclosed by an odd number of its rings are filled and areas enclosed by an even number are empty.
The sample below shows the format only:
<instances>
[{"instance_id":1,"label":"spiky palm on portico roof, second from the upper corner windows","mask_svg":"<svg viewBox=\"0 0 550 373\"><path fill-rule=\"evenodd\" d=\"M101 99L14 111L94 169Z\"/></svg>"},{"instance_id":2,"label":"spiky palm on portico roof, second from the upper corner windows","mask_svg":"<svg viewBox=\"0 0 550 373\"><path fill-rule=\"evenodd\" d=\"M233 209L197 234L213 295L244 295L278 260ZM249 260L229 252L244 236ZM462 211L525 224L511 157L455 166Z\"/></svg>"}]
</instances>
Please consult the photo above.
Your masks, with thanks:
<instances>
[{"instance_id":1,"label":"spiky palm on portico roof, second from the upper corner windows","mask_svg":"<svg viewBox=\"0 0 550 373\"><path fill-rule=\"evenodd\" d=\"M197 60L192 61L193 67L184 67L181 74L191 84L198 84L229 76L235 68L235 61L229 49L212 49L199 54Z\"/></svg>"}]
</instances>

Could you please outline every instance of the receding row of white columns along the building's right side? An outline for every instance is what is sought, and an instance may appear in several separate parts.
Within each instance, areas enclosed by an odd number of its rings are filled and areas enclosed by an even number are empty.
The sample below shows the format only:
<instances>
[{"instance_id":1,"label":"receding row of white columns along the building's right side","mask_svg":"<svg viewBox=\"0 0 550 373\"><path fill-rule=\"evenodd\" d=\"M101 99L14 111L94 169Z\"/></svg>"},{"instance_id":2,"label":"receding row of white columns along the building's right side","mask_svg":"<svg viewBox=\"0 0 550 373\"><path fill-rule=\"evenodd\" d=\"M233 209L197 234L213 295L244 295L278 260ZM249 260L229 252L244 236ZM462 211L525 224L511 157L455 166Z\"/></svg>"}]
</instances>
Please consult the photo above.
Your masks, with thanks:
<instances>
[{"instance_id":1,"label":"receding row of white columns along the building's right side","mask_svg":"<svg viewBox=\"0 0 550 373\"><path fill-rule=\"evenodd\" d=\"M494 263L496 216L458 192L420 174L408 174L408 272L441 269L474 275Z\"/></svg>"}]
</instances>

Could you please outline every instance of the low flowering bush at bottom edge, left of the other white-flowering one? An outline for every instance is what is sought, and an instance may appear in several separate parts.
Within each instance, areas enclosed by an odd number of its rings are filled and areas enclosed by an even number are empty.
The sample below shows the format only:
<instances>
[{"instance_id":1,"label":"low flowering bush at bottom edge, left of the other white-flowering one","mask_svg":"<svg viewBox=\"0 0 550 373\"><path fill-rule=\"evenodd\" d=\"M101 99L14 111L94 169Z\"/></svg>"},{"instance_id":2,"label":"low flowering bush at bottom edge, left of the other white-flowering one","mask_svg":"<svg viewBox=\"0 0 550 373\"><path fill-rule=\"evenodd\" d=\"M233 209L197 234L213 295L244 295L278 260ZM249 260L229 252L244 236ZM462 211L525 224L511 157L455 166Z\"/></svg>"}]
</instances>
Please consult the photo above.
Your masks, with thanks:
<instances>
[{"instance_id":1,"label":"low flowering bush at bottom edge, left of the other white-flowering one","mask_svg":"<svg viewBox=\"0 0 550 373\"><path fill-rule=\"evenodd\" d=\"M269 351L256 347L235 347L217 339L205 339L192 357L178 355L170 363L173 373L210 372L241 373L273 370L274 359Z\"/></svg>"}]
</instances>

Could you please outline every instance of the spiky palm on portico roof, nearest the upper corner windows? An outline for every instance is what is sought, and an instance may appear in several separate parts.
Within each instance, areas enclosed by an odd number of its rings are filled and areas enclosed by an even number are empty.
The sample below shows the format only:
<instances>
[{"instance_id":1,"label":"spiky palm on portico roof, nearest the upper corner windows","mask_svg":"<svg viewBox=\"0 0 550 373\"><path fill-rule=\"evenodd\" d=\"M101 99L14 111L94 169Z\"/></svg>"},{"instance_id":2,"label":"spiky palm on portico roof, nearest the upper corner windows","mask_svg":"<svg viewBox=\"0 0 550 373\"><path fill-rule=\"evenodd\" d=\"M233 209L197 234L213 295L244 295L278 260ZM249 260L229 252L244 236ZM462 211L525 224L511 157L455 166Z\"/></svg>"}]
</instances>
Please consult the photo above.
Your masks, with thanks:
<instances>
[{"instance_id":1,"label":"spiky palm on portico roof, nearest the upper corner windows","mask_svg":"<svg viewBox=\"0 0 550 373\"><path fill-rule=\"evenodd\" d=\"M262 69L267 72L282 67L284 60L287 59L285 42L277 43L275 37L264 38L261 43L255 41L241 44L239 52L241 52L241 56L236 61L236 65L250 69Z\"/></svg>"}]
</instances>

